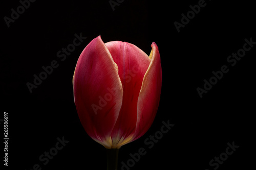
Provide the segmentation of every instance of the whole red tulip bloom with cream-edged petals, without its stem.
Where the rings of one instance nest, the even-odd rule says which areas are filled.
[[[74,102],[88,135],[117,150],[152,125],[161,92],[162,70],[155,42],[147,56],[134,44],[93,39],[74,71]],[[115,151],[116,152],[116,151]]]

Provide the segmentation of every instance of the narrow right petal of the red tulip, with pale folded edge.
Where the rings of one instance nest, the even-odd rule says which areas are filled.
[[[132,141],[141,137],[151,127],[160,101],[162,86],[160,54],[155,42],[151,47],[151,62],[143,78],[139,94],[136,131]]]

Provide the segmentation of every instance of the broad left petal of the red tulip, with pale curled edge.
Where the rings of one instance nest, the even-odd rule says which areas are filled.
[[[89,136],[111,148],[111,132],[122,104],[122,84],[118,67],[101,37],[84,48],[75,68],[75,105]]]

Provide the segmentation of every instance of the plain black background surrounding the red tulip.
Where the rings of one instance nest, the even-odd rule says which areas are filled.
[[[125,0],[113,11],[109,1],[36,1],[8,28],[4,17],[19,1],[1,2],[1,67],[3,112],[9,115],[8,168],[105,169],[105,149],[84,131],[73,101],[72,77],[83,48],[101,35],[104,42],[135,44],[146,54],[156,42],[163,72],[159,109],[150,130],[119,151],[119,165],[130,153],[146,149],[131,169],[214,169],[227,142],[240,147],[218,169],[249,169],[255,114],[255,46],[233,67],[226,59],[255,34],[255,8],[242,1],[205,1],[193,19],[178,33],[174,22],[199,1]],[[65,61],[57,57],[73,43],[74,34],[87,37]],[[42,66],[56,60],[51,75],[30,93]],[[201,99],[197,87],[212,71],[227,65],[229,72]],[[160,131],[162,121],[175,126],[154,144],[144,140]],[[1,129],[3,123],[1,123]],[[3,139],[3,135],[1,135]],[[39,156],[55,147],[57,137],[69,143],[46,165]],[[2,145],[4,147],[4,145]],[[2,159],[3,159],[3,149]],[[1,160],[1,164],[3,161]],[[216,167],[216,166],[215,166]]]

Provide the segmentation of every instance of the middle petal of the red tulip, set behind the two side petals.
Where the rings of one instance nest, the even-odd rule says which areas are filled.
[[[131,43],[111,41],[105,44],[118,65],[123,87],[122,107],[111,134],[113,145],[119,148],[129,142],[135,133],[138,97],[150,58]]]

